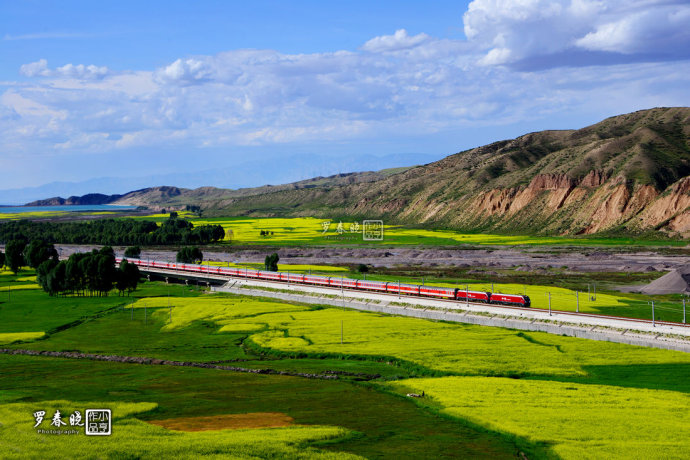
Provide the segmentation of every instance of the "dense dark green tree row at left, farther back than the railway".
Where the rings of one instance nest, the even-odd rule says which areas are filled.
[[[63,244],[102,245],[173,245],[209,244],[222,241],[225,230],[220,225],[200,225],[171,215],[160,226],[139,219],[100,219],[91,222],[0,223],[0,242],[27,239]]]

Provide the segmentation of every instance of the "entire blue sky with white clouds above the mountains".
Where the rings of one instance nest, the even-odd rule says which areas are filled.
[[[688,106],[689,87],[687,1],[0,0],[0,189],[397,166]]]

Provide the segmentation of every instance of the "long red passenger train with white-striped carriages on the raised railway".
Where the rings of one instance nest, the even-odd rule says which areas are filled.
[[[117,263],[122,262],[117,258]],[[351,278],[335,276],[302,275],[289,272],[269,272],[252,270],[248,268],[213,267],[208,265],[183,264],[177,262],[159,262],[140,259],[128,260],[140,267],[161,268],[167,270],[180,270],[195,273],[208,273],[216,275],[237,276],[241,278],[254,278],[268,281],[282,281],[297,284],[313,284],[316,286],[342,287],[345,289],[359,289],[363,291],[388,292],[391,294],[405,294],[422,297],[435,297],[440,299],[452,299],[466,302],[482,302],[490,304],[514,305],[529,307],[530,300],[526,295],[500,294],[482,291],[469,291],[466,289],[446,288],[438,286],[420,286],[416,284],[402,284],[386,281],[354,280]]]

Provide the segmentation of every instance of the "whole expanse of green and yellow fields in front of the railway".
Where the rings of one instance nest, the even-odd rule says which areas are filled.
[[[0,297],[3,336],[20,340],[3,345],[11,348],[346,373],[328,381],[0,355],[0,449],[9,458],[88,456],[86,437],[35,433],[31,414],[90,404],[117,417],[105,457],[682,458],[690,449],[690,354],[682,352],[162,283],[144,283],[131,298],[20,290]],[[365,374],[379,377],[360,382]],[[411,391],[425,396],[404,397]],[[202,432],[148,423],[265,412],[294,421]]]

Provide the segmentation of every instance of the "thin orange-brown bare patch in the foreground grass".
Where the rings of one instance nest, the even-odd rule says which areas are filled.
[[[277,428],[291,425],[294,419],[281,412],[182,417],[149,420],[149,423],[177,431],[239,430],[243,428]]]

